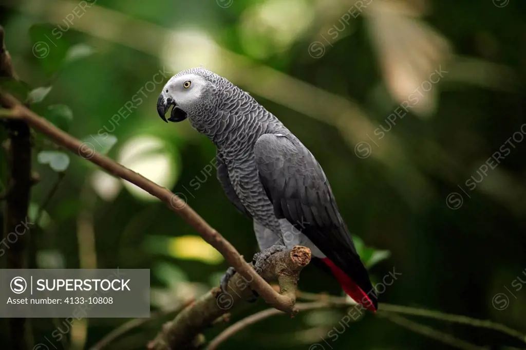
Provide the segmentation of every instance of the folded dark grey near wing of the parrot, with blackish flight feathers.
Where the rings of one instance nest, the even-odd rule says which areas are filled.
[[[276,217],[286,218],[305,234],[363,291],[373,291],[327,178],[309,150],[294,136],[264,134],[254,154]]]

